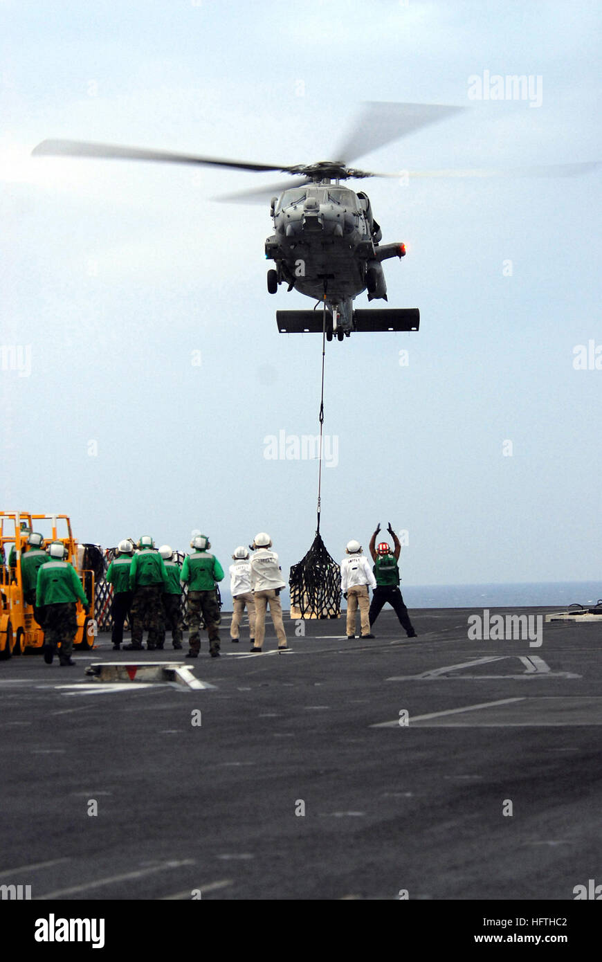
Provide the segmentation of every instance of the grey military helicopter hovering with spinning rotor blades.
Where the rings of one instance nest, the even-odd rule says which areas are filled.
[[[367,291],[368,301],[387,301],[383,261],[402,258],[401,241],[381,244],[382,230],[364,190],[351,190],[341,181],[368,177],[394,177],[349,166],[352,160],[446,117],[466,110],[441,104],[368,102],[350,134],[339,146],[338,161],[308,165],[265,165],[246,161],[174,153],[138,147],[91,143],[84,140],[42,140],[35,156],[88,157],[112,160],[156,161],[168,164],[209,165],[255,172],[280,171],[296,176],[291,185],[277,184],[245,190],[218,199],[264,200],[270,197],[275,233],[265,241],[265,258],[275,262],[267,271],[267,291],[281,284],[321,305],[323,311],[277,311],[281,333],[323,333],[327,341],[342,341],[355,331],[417,331],[417,308],[355,310],[355,298]],[[514,170],[404,171],[412,176],[554,176],[582,173],[598,162],[546,165]]]

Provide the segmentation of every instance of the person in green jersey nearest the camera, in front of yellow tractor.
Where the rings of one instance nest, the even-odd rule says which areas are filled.
[[[89,605],[75,569],[64,561],[65,554],[64,544],[53,542],[48,548],[48,560],[38,568],[36,604],[43,608],[46,665],[52,665],[59,645],[61,664],[75,665],[71,652],[77,634],[76,602],[79,599],[86,610]]]

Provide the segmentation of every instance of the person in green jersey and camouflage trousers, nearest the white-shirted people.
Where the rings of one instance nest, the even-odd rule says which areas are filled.
[[[182,581],[188,585],[188,645],[187,658],[197,658],[201,649],[199,627],[201,614],[209,634],[209,650],[212,658],[219,657],[219,601],[215,583],[221,581],[224,571],[213,554],[205,535],[197,535],[190,542],[192,553],[184,559]]]

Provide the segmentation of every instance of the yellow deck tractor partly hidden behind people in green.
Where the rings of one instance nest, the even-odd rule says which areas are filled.
[[[69,561],[77,571],[90,610],[93,611],[94,572],[78,567],[78,545],[71,532],[68,516],[0,511],[0,661],[10,658],[12,654],[23,654],[30,648],[40,651],[44,643],[43,627],[36,620],[34,606],[25,599],[21,573],[21,558],[32,532],[41,534],[46,544],[53,541],[64,544],[67,552],[65,561]],[[43,613],[40,620],[43,620]],[[82,603],[78,601],[74,647],[92,648],[95,636],[96,622],[87,616]]]

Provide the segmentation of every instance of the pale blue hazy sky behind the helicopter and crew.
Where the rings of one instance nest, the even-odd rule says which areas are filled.
[[[288,571],[318,466],[269,440],[317,433],[321,338],[278,333],[277,309],[313,304],[266,291],[268,204],[213,199],[280,175],[32,149],[311,163],[391,101],[464,110],[367,142],[368,169],[599,161],[599,5],[2,0],[0,21],[2,507],[104,546],[201,531],[224,565],[267,531]],[[475,96],[514,74],[533,96]],[[599,577],[601,175],[352,182],[408,248],[389,307],[421,319],[326,345],[337,560],[390,521],[406,585]]]

